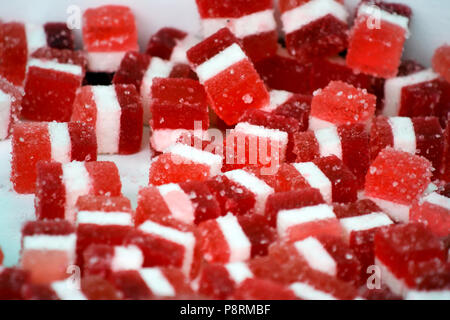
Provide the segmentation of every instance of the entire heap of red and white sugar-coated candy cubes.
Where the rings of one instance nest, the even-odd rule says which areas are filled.
[[[271,0],[197,0],[202,37],[145,53],[125,6],[86,10],[78,51],[0,23],[0,139],[36,214],[0,299],[450,299],[450,47],[402,61],[405,5],[278,6],[280,41]],[[144,125],[133,209],[97,155]]]

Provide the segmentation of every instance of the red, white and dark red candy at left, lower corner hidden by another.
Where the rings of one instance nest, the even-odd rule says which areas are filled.
[[[95,161],[94,129],[84,123],[17,123],[13,127],[11,181],[18,193],[33,193],[39,161]]]

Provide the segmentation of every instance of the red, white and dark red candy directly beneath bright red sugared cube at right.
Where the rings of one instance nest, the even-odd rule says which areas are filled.
[[[360,123],[299,132],[295,135],[294,153],[298,162],[334,155],[344,162],[361,186],[370,162],[369,134]]]

